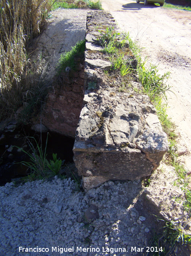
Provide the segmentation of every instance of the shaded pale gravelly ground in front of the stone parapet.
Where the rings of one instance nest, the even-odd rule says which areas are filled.
[[[18,187],[7,183],[0,187],[0,255],[98,256],[121,248],[123,251],[116,255],[126,256],[136,255],[131,253],[131,246],[146,247],[146,232],[151,225],[146,223],[147,216],[141,221],[144,216],[139,217],[136,209],[142,204],[138,197],[141,182],[106,182],[87,193],[77,188],[70,178],[60,180],[57,176],[49,182],[39,180]],[[88,223],[84,214],[90,205],[97,207],[99,217]],[[47,252],[19,252],[19,247],[37,246],[47,248]],[[73,251],[64,252],[63,248]],[[83,248],[95,248],[97,252]]]

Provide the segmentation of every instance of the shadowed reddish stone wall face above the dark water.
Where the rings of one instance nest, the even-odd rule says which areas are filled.
[[[55,77],[42,122],[50,130],[75,137],[84,98],[84,60],[76,59],[76,71],[63,71]]]

